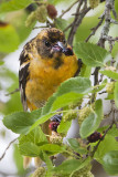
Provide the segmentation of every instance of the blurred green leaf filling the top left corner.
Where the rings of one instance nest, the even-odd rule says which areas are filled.
[[[0,6],[0,12],[10,12],[14,10],[20,10],[26,8],[33,0],[10,0],[8,2],[2,2]]]

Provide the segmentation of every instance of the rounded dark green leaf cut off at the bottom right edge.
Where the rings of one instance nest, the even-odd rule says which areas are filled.
[[[118,175],[118,150],[111,150],[103,157],[103,166],[109,175]]]

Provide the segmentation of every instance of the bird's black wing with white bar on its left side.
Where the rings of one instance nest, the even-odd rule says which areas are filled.
[[[28,104],[26,104],[26,96],[25,96],[25,85],[29,80],[30,58],[29,58],[29,54],[25,52],[25,49],[22,51],[19,60],[20,60],[19,87],[21,92],[21,102],[23,105],[23,110],[26,111]]]

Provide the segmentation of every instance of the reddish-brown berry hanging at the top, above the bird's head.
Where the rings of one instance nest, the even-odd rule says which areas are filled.
[[[57,15],[57,10],[53,4],[47,4],[46,7],[47,14],[51,19],[55,19]]]

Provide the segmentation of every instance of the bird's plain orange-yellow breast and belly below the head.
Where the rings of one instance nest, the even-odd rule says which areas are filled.
[[[76,56],[66,56],[62,61],[58,69],[54,69],[54,59],[31,61],[25,95],[35,107],[43,106],[62,82],[75,75],[78,69]]]

